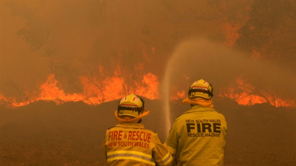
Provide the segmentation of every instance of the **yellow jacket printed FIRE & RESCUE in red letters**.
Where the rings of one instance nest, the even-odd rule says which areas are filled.
[[[103,151],[108,165],[171,165],[173,161],[158,134],[135,122],[109,128]]]

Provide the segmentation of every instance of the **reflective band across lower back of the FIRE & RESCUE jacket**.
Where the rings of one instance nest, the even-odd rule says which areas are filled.
[[[107,161],[112,160],[137,160],[145,162],[150,165],[155,165],[155,161],[152,159],[152,155],[133,151],[133,150],[117,150],[112,152],[107,152]]]

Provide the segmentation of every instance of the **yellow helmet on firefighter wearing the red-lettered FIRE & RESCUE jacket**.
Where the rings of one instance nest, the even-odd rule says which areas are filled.
[[[123,97],[118,104],[118,116],[128,115],[137,117],[144,111],[144,100],[134,94]]]

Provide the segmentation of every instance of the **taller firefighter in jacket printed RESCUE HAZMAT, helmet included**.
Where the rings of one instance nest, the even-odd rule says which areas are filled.
[[[212,97],[212,85],[205,80],[190,86],[183,103],[192,108],[175,119],[165,140],[173,165],[223,165],[227,124],[224,116],[213,109]]]

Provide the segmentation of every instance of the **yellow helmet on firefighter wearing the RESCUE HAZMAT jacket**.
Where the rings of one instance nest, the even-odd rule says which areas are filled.
[[[213,97],[213,87],[210,83],[200,79],[189,87],[188,97],[202,97],[209,100]]]

